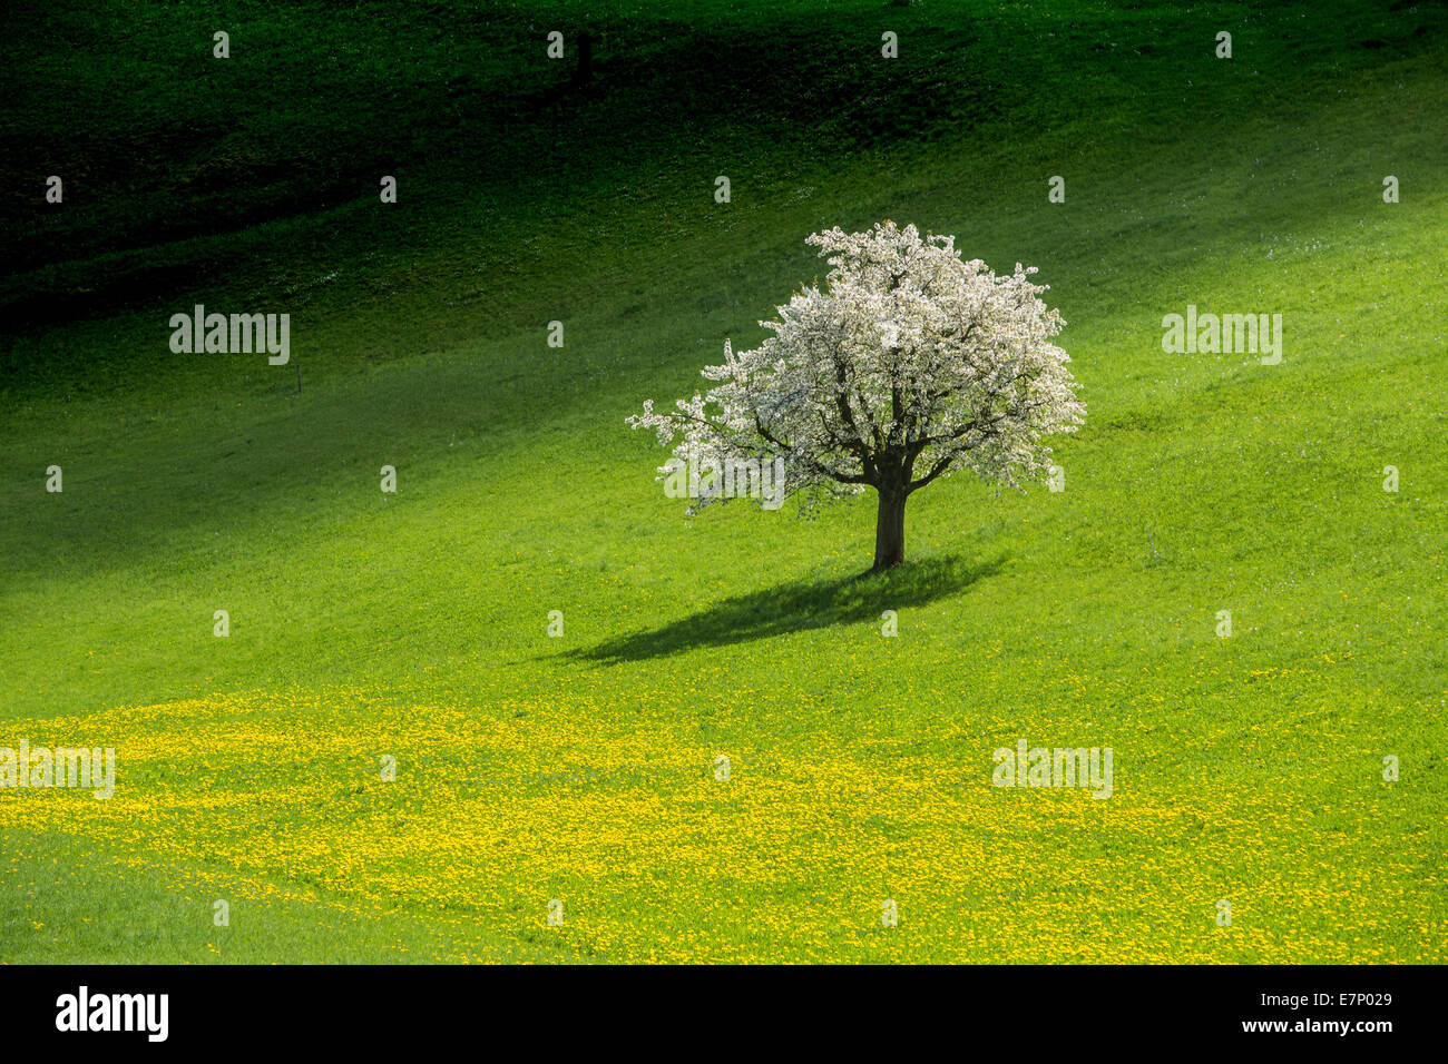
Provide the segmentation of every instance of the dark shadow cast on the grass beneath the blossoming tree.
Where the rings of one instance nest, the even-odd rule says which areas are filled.
[[[1005,554],[989,562],[927,557],[883,573],[780,583],[724,599],[662,628],[573,650],[569,657],[608,664],[641,662],[696,647],[723,647],[835,624],[875,622],[886,609],[919,607],[964,591],[1001,572],[1005,559]]]

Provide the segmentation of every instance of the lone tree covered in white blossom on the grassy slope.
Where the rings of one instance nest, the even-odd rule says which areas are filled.
[[[681,463],[759,469],[782,457],[791,495],[875,488],[879,572],[905,560],[914,492],[961,468],[1012,486],[1040,476],[1051,456],[1043,437],[1076,431],[1086,408],[1051,343],[1064,323],[1028,279],[1034,266],[996,276],[963,262],[953,236],[921,239],[893,221],[807,243],[830,262],[825,290],[804,288],[760,321],[775,334],[754,350],[725,342],[724,365],[702,371],[717,382],[707,394],[669,413],[649,401],[628,423],[673,446],[660,479]]]

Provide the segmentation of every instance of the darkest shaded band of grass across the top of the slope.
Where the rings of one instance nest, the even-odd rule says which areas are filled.
[[[1183,120],[1245,119],[1283,96],[1261,69],[1341,78],[1436,46],[1444,17],[1428,4],[1312,20],[1292,6],[1244,22],[1235,4],[1187,19],[1167,6],[947,13],[851,1],[825,20],[738,0],[683,19],[628,4],[484,14],[446,0],[313,0],[97,22],[30,7],[20,55],[0,71],[0,91],[20,101],[0,124],[0,204],[12,216],[0,333],[203,285],[262,285],[319,253],[416,252],[479,203],[555,217],[599,190],[647,191],[660,169],[688,174],[708,203],[717,174],[757,182],[766,153],[818,159],[1063,129],[1085,146],[1129,126],[1151,138]],[[210,54],[219,20],[230,59]],[[1237,28],[1251,67],[1211,58],[1219,23]],[[586,87],[571,84],[572,52],[546,58],[549,29],[571,42],[594,35]],[[883,30],[904,42],[898,59],[880,56]],[[67,182],[62,207],[43,201],[51,174]],[[387,210],[382,174],[400,181]],[[23,350],[0,349],[7,372],[25,363]]]

